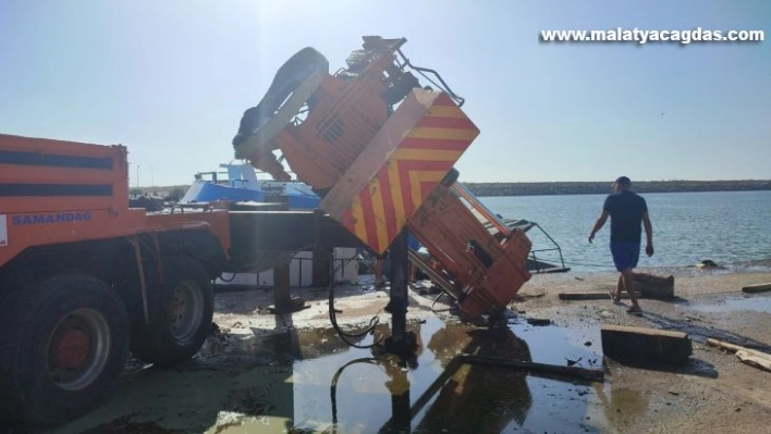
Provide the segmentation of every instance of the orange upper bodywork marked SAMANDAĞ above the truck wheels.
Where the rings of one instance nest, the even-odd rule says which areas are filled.
[[[211,225],[225,252],[227,212],[148,218],[128,208],[121,145],[0,134],[0,265],[32,246]]]

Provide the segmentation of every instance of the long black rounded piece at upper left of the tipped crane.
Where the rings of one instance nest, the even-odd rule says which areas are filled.
[[[329,75],[327,58],[311,47],[291,57],[279,69],[265,97],[244,112],[233,137],[235,158],[265,153],[267,148]],[[309,109],[310,110],[310,109]]]

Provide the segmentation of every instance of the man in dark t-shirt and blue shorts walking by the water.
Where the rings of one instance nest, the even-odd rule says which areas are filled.
[[[637,266],[640,256],[641,228],[646,234],[646,255],[653,256],[653,228],[648,216],[648,204],[645,199],[629,190],[632,181],[620,176],[613,183],[613,194],[605,198],[602,213],[597,219],[595,227],[589,234],[589,243],[595,239],[595,234],[604,226],[608,216],[611,218],[610,250],[613,256],[615,269],[621,272],[619,284],[612,294],[613,301],[621,299],[621,289],[626,289],[632,300],[628,313],[641,314],[642,309],[635,296],[635,280],[632,270]]]

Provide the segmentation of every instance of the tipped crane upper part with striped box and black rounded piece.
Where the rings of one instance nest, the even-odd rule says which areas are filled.
[[[376,253],[406,257],[406,238],[392,243],[414,236],[435,261],[411,259],[463,317],[504,308],[530,278],[531,244],[456,182],[453,164],[479,134],[464,99],[436,71],[409,62],[405,38],[363,39],[334,74],[311,47],[290,58],[244,112],[235,157],[277,179],[289,177],[285,160],[322,197],[319,208]],[[406,259],[400,263],[393,274],[401,281]]]

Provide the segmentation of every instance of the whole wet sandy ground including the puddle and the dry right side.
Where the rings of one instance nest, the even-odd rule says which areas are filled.
[[[406,367],[342,342],[330,323],[326,288],[294,290],[306,309],[284,315],[268,312],[270,292],[220,293],[217,325],[193,360],[174,369],[131,360],[102,407],[41,432],[764,432],[771,423],[771,373],[708,346],[706,338],[771,352],[771,293],[741,292],[771,282],[769,264],[646,272],[674,275],[675,299],[640,300],[640,318],[625,312],[628,301],[559,298],[610,290],[615,273],[534,275],[511,313],[492,326],[463,324],[444,311],[446,298],[414,288],[407,320],[418,350]],[[374,335],[354,344],[366,347],[389,335],[390,314],[382,311],[388,289],[362,276],[359,285],[335,292],[344,331],[362,331],[375,315],[380,320]],[[536,326],[527,319],[551,324]],[[603,358],[602,324],[684,331],[693,340],[690,361],[642,369]],[[449,372],[462,354],[600,369],[605,375],[592,382],[466,364]]]

